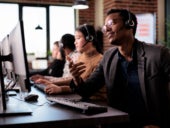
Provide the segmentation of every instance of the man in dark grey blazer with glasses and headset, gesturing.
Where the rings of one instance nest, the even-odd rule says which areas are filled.
[[[81,63],[70,62],[70,87],[89,97],[104,84],[111,107],[129,114],[130,128],[167,128],[170,121],[170,52],[135,39],[137,20],[125,9],[111,9],[103,31],[115,47],[83,81]],[[169,119],[168,119],[169,118]],[[125,126],[128,127],[128,126]]]

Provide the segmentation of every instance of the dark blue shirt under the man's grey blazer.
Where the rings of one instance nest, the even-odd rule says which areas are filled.
[[[118,71],[121,74],[124,82],[121,82],[126,88],[125,90],[127,97],[125,99],[127,101],[127,112],[130,115],[130,118],[133,121],[138,120],[138,122],[144,118],[147,118],[147,111],[145,108],[144,100],[141,93],[139,77],[138,77],[138,67],[137,67],[137,55],[136,51],[133,50],[132,53],[132,61],[128,62],[125,58],[118,52],[119,55],[119,63],[118,63]]]

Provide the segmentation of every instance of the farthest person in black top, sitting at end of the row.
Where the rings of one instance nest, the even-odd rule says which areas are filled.
[[[53,61],[47,67],[47,69],[30,72],[31,79],[44,78],[44,76],[61,77],[63,75],[63,69],[65,64],[65,53],[62,47],[59,46],[59,41],[55,41],[52,49]]]

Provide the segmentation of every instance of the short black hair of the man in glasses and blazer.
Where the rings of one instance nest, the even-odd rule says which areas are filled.
[[[130,12],[127,9],[115,9],[112,8],[107,12],[107,16],[112,14],[112,13],[119,13],[120,16],[123,19],[123,22],[125,24],[126,21],[128,20],[132,20],[134,22],[134,27],[133,27],[133,35],[136,34],[136,29],[137,29],[137,18],[135,16],[135,14],[133,14],[132,12]]]

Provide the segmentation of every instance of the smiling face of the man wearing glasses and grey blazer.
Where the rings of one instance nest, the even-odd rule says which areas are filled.
[[[126,38],[127,29],[119,13],[112,13],[105,19],[103,32],[106,34],[109,42],[113,45],[121,45]]]

